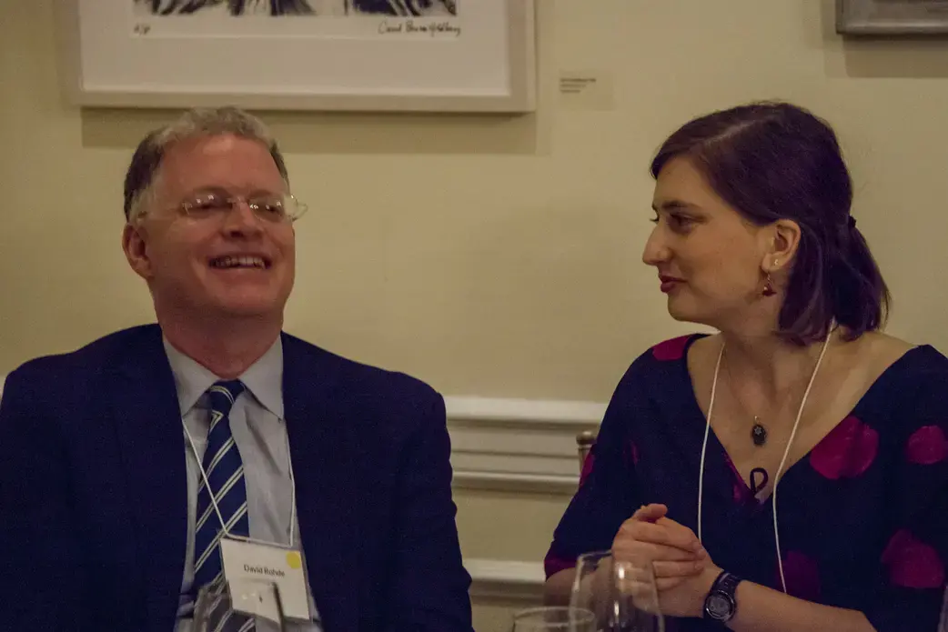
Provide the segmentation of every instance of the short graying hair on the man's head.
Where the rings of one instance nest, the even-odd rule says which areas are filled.
[[[264,145],[273,156],[283,181],[289,183],[283,153],[280,153],[277,141],[270,135],[264,121],[231,106],[195,108],[150,132],[138,143],[125,172],[125,220],[133,223],[145,213],[144,203],[154,192],[161,160],[169,147],[188,138],[225,134],[256,140]]]

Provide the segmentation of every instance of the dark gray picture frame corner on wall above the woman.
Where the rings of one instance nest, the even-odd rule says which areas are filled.
[[[946,0],[836,0],[836,32],[846,35],[948,34]]]

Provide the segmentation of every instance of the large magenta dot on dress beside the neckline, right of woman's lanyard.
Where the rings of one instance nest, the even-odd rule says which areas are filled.
[[[810,453],[814,470],[830,480],[862,476],[879,452],[879,433],[849,416]]]

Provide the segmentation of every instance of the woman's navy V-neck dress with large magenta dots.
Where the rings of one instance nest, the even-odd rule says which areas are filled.
[[[686,354],[699,337],[652,348],[619,383],[556,528],[547,576],[609,549],[647,503],[667,505],[697,533],[705,419]],[[779,590],[773,497],[753,497],[713,431],[704,468],[705,549],[720,568]],[[948,560],[948,358],[921,346],[885,370],[781,478],[777,515],[790,594],[859,610],[879,632],[935,632]],[[720,629],[700,619],[669,628]]]

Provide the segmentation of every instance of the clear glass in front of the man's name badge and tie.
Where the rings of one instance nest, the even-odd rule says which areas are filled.
[[[283,606],[276,584],[254,580],[226,581],[223,577],[201,587],[194,602],[193,632],[243,632],[269,622],[267,629],[283,632]]]

